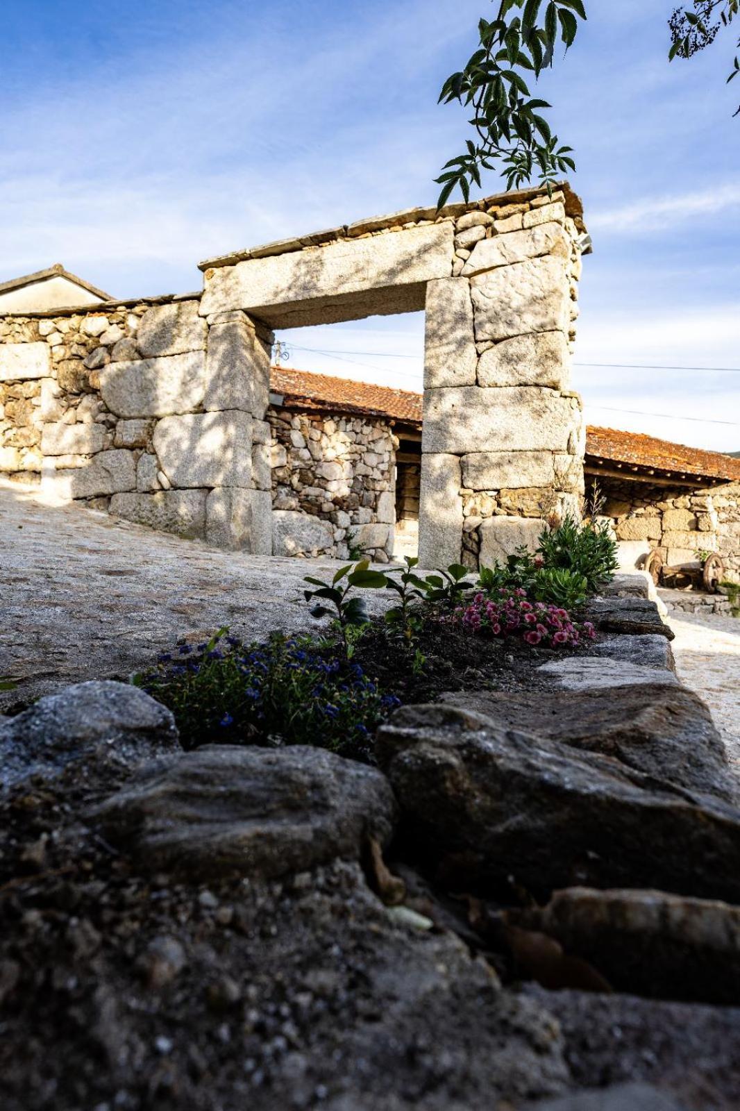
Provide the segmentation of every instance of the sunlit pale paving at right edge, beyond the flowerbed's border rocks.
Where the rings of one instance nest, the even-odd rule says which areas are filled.
[[[740,773],[740,619],[671,613],[679,678],[707,702]]]

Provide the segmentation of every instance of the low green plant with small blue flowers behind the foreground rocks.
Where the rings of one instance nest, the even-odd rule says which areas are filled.
[[[187,749],[316,744],[368,761],[374,729],[399,704],[309,635],[244,644],[220,629],[196,648],[163,653],[132,682],[169,707]]]

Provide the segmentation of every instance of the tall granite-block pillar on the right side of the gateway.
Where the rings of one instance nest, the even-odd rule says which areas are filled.
[[[419,559],[471,568],[580,513],[570,389],[580,252],[562,194],[470,210],[451,277],[427,286]]]

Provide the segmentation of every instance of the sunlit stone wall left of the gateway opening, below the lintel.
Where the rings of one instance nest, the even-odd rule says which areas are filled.
[[[54,500],[269,554],[270,343],[244,313],[206,321],[196,296],[8,318],[0,470]]]

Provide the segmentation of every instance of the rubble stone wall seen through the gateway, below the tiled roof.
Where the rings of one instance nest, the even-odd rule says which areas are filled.
[[[276,556],[393,551],[398,440],[388,421],[270,408]]]

